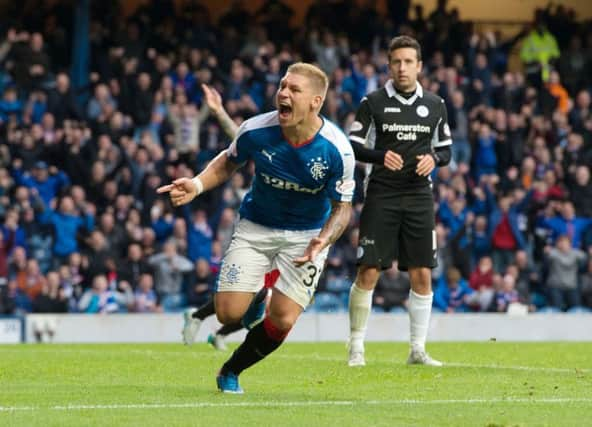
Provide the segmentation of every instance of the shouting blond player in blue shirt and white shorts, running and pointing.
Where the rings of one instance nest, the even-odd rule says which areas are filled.
[[[215,295],[223,324],[237,323],[264,274],[280,271],[264,320],[222,366],[216,382],[242,393],[238,376],[276,350],[310,303],[328,246],[351,216],[354,155],[347,137],[319,111],[328,79],[319,68],[291,65],[276,94],[277,111],[245,121],[231,146],[193,179],[158,189],[176,206],[227,181],[252,159],[255,178],[224,255]]]

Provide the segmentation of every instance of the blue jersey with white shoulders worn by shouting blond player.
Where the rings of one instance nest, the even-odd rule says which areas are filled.
[[[228,148],[229,159],[255,162],[255,178],[240,207],[241,218],[284,230],[321,228],[330,200],[351,202],[355,159],[345,134],[323,118],[307,143],[284,137],[278,113],[246,120]]]

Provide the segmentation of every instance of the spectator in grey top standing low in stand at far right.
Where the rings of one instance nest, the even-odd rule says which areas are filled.
[[[545,248],[545,254],[549,265],[546,287],[551,307],[563,310],[580,306],[578,269],[586,254],[574,249],[567,235],[559,236],[554,248]],[[592,250],[590,254],[592,256]]]

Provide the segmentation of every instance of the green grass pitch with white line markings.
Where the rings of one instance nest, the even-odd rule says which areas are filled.
[[[229,353],[206,344],[0,346],[0,426],[583,426],[592,424],[592,343],[288,343],[223,395]]]

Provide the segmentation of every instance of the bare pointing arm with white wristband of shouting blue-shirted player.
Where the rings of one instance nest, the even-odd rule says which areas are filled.
[[[224,150],[214,157],[199,175],[176,179],[171,184],[159,187],[156,192],[169,193],[173,206],[181,206],[191,202],[204,191],[228,181],[239,167],[239,164],[228,158],[228,150]]]

